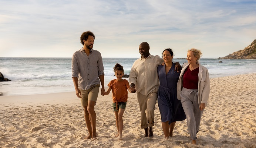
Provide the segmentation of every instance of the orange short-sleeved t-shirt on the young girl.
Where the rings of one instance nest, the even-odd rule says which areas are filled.
[[[130,87],[127,80],[118,81],[116,79],[111,80],[108,83],[108,87],[112,89],[113,102],[127,102],[128,92],[127,89]]]

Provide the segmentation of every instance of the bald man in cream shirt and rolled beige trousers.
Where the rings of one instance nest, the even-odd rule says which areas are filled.
[[[129,81],[131,91],[137,92],[139,110],[141,111],[141,128],[145,130],[145,137],[154,137],[153,129],[155,118],[155,105],[159,87],[157,67],[164,60],[158,55],[149,53],[149,44],[142,42],[139,45],[141,57],[132,65]],[[176,62],[175,70],[180,71],[181,65]],[[148,128],[149,127],[149,128]]]

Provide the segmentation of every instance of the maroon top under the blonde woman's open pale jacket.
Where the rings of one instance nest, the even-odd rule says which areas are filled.
[[[198,89],[198,73],[199,67],[192,71],[187,67],[183,74],[183,87],[187,89]]]

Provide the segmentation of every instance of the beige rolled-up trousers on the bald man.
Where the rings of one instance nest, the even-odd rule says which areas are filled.
[[[144,96],[140,92],[137,94],[139,110],[141,111],[141,128],[154,126],[155,104],[157,100],[158,88],[155,88],[148,95]]]

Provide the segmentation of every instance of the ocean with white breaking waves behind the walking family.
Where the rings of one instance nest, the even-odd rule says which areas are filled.
[[[105,89],[114,79],[116,63],[129,74],[138,58],[102,58]],[[173,59],[181,65],[186,59]],[[200,63],[208,68],[210,78],[246,73],[256,73],[256,60],[225,60],[202,58]],[[222,63],[219,63],[222,61]],[[0,82],[2,95],[31,95],[75,91],[71,78],[71,58],[0,57],[0,72],[11,81]],[[129,80],[129,78],[125,78]]]

